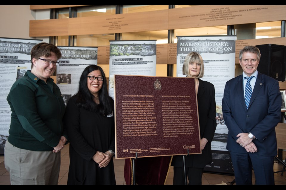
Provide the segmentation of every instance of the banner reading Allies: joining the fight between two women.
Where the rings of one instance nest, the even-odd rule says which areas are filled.
[[[83,70],[88,65],[97,65],[97,47],[57,46],[62,57],[57,66],[55,83],[60,88],[65,105],[77,93]]]

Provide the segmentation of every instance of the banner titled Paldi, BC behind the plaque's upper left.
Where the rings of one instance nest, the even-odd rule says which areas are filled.
[[[156,40],[110,41],[108,88],[113,98],[114,75],[156,76]]]

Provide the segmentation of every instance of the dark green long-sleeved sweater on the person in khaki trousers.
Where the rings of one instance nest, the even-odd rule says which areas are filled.
[[[65,104],[52,78],[47,83],[27,71],[7,96],[11,107],[8,141],[31,151],[52,151],[63,134]],[[66,136],[67,137],[67,136]]]

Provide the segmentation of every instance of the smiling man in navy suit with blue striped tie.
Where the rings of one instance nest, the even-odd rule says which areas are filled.
[[[275,126],[281,118],[281,94],[277,80],[257,71],[260,51],[246,46],[239,54],[243,74],[229,80],[224,89],[223,117],[229,129],[230,151],[236,184],[273,184],[277,155]]]

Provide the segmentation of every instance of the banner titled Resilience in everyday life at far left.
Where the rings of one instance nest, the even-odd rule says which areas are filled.
[[[42,40],[0,38],[0,155],[9,135],[11,109],[7,96],[14,82],[31,70],[31,50]],[[25,97],[23,97],[25,98]]]

